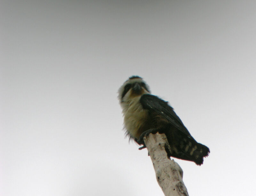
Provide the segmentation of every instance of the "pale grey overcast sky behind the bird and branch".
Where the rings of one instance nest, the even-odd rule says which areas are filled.
[[[124,138],[140,75],[211,153],[175,159],[190,196],[255,193],[255,1],[0,4],[0,195],[163,195]]]

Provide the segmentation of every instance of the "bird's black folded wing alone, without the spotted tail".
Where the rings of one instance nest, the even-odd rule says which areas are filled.
[[[157,96],[144,94],[140,98],[140,103],[144,109],[156,112],[164,119],[169,121],[172,126],[176,127],[187,136],[193,138],[188,132],[188,129],[181,122],[179,116],[177,116],[177,114],[173,111],[173,108],[168,105],[168,102],[158,98]]]

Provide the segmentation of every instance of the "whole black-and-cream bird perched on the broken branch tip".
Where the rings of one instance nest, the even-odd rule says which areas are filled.
[[[143,145],[140,150],[146,148],[144,136],[164,133],[170,146],[166,150],[168,157],[203,164],[210,149],[191,136],[168,102],[151,94],[143,78],[137,75],[129,77],[119,88],[118,99],[126,136]]]

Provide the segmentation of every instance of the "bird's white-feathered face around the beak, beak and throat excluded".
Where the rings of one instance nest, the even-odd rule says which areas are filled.
[[[131,97],[132,86],[135,83],[138,83],[142,89],[140,95],[150,94],[149,86],[145,81],[142,80],[142,78],[128,79],[124,82],[124,84],[118,90],[118,99],[120,103],[126,101]]]

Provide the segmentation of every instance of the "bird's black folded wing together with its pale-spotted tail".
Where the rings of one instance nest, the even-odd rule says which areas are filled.
[[[176,128],[163,132],[170,145],[170,151],[166,151],[169,157],[194,161],[197,165],[203,164],[204,157],[210,153],[209,148],[196,142],[168,102],[154,95],[145,94],[141,96],[140,103],[144,109],[159,114]]]

